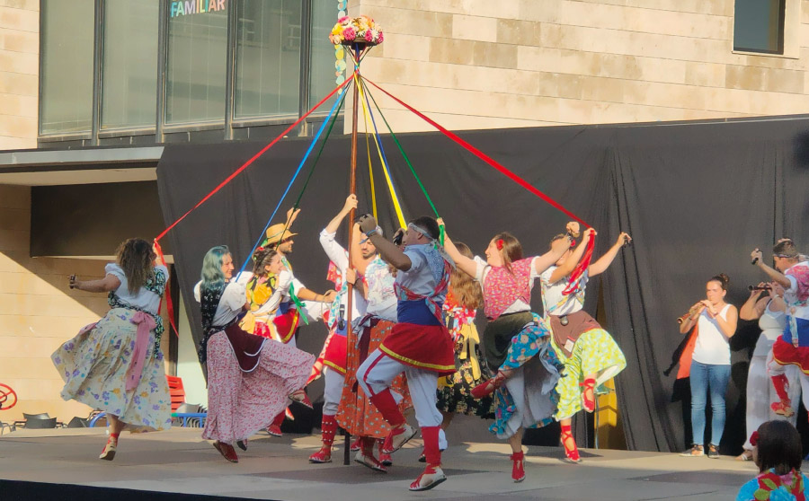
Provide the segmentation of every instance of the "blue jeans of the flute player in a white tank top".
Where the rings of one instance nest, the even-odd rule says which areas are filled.
[[[691,428],[692,444],[705,440],[705,406],[711,391],[711,444],[719,446],[725,431],[725,391],[730,381],[730,365],[691,362]]]

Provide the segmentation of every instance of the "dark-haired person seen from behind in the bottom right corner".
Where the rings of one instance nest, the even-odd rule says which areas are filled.
[[[751,436],[759,476],[745,483],[736,501],[805,499],[809,478],[801,473],[801,435],[784,421],[768,421]]]

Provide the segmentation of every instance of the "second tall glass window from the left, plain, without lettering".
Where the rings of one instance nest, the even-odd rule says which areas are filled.
[[[105,0],[102,128],[155,125],[160,3]]]

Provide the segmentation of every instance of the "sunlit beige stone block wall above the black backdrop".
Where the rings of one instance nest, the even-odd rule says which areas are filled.
[[[787,0],[787,57],[734,53],[733,6],[353,0],[349,12],[386,35],[363,74],[450,129],[809,112],[809,1]],[[374,94],[395,130],[430,128]]]

